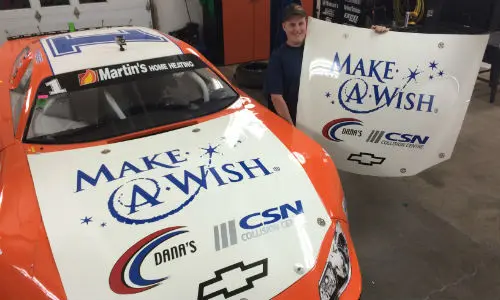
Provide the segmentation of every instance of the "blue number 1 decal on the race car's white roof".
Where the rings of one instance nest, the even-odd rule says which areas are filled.
[[[71,36],[67,34],[47,39],[48,48],[54,57],[81,52],[82,46],[115,43],[116,36],[121,35],[129,42],[168,42],[161,35],[154,35],[138,29],[117,30],[115,33],[94,34],[86,36]]]

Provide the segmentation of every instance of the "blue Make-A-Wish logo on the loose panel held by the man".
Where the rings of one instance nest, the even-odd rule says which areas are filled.
[[[438,65],[432,61],[424,69],[399,67],[395,61],[356,59],[351,54],[343,57],[337,52],[331,73],[349,76],[335,91],[339,104],[351,113],[368,114],[383,108],[437,113],[436,95],[419,90],[417,84],[443,77]],[[332,93],[327,91],[325,95],[330,98]]]

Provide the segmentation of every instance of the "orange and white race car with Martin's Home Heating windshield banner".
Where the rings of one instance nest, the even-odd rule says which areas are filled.
[[[332,158],[192,46],[88,29],[0,64],[2,300],[359,299]]]

